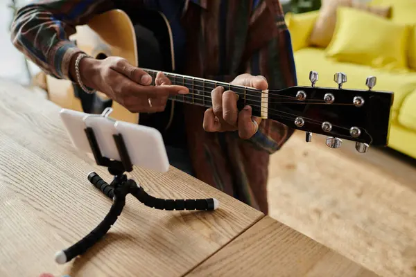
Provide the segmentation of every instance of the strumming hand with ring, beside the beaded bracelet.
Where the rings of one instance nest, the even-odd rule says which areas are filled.
[[[73,80],[76,80],[75,61],[76,57],[73,57],[70,67]],[[189,93],[187,87],[172,85],[162,72],[157,73],[156,85],[150,85],[152,77],[148,73],[121,57],[107,57],[105,60],[84,57],[79,66],[85,86],[105,93],[133,113],[163,111],[168,96]]]

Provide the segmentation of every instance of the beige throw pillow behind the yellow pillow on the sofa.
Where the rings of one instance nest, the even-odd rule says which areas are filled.
[[[309,37],[309,44],[322,48],[328,46],[335,29],[336,10],[338,7],[352,7],[358,10],[365,10],[380,17],[390,16],[390,6],[369,6],[354,0],[322,0],[318,18]]]

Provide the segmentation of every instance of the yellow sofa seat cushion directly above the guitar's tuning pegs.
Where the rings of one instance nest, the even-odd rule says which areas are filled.
[[[336,62],[325,57],[322,48],[303,48],[296,51],[295,64],[297,81],[302,86],[311,85],[309,71],[318,71],[319,80],[316,83],[318,87],[336,87],[337,84],[333,82],[333,74],[336,72],[347,75],[347,82],[343,84],[346,89],[368,89],[365,86],[365,79],[369,75],[376,76],[377,83],[374,90],[395,93],[392,116],[397,114],[395,111],[399,111],[404,98],[416,89],[416,72],[392,73],[365,65]]]

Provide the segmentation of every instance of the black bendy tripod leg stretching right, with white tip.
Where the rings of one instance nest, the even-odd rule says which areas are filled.
[[[198,211],[213,211],[218,208],[220,202],[215,198],[207,199],[161,199],[148,195],[141,186],[137,186],[132,179],[128,180],[130,183],[130,193],[137,198],[141,203],[150,208],[157,208],[158,210],[166,211],[181,211],[181,210],[198,210]]]

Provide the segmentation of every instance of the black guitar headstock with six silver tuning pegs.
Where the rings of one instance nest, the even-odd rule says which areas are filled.
[[[268,93],[268,118],[306,132],[328,135],[326,144],[339,148],[342,139],[356,141],[358,152],[367,152],[370,145],[388,145],[390,111],[393,93],[374,91],[376,77],[365,81],[368,90],[344,89],[344,73],[335,73],[338,87],[317,87],[318,73],[309,74],[311,87],[290,87]]]

